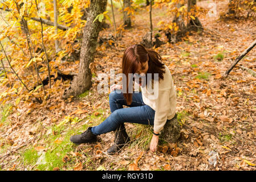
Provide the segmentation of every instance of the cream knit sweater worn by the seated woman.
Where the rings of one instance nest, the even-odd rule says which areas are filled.
[[[137,83],[135,82],[135,84]],[[149,86],[151,86],[151,84],[144,87],[135,85],[135,88],[141,90],[143,102],[155,110],[154,130],[160,132],[164,129],[166,120],[172,119],[176,112],[176,87],[173,84],[172,75],[166,65],[164,79],[158,82],[158,89],[156,89],[158,97],[153,97],[157,94],[154,95],[154,92],[150,93]],[[155,86],[155,84],[153,84],[153,86]],[[135,90],[139,91],[138,89]]]

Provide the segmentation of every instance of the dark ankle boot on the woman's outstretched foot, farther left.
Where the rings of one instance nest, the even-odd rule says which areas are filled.
[[[73,135],[70,137],[70,141],[75,143],[75,144],[81,144],[81,143],[91,143],[91,142],[96,142],[97,141],[97,135],[92,134],[91,132],[92,127],[88,127],[84,133],[80,135]]]

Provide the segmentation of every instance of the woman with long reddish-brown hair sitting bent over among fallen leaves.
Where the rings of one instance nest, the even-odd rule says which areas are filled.
[[[166,121],[172,119],[176,108],[176,90],[173,85],[172,75],[169,68],[161,61],[161,56],[140,44],[128,47],[124,51],[122,70],[127,78],[127,82],[122,85],[112,85],[109,94],[109,106],[111,114],[100,125],[88,127],[80,134],[70,138],[71,142],[76,144],[95,142],[96,136],[109,131],[116,131],[114,144],[108,149],[108,154],[115,154],[129,142],[128,134],[125,131],[124,122],[140,123],[144,125],[153,125],[153,137],[150,143],[150,150],[156,151],[159,142],[160,131],[164,128]],[[151,97],[148,85],[143,82],[135,82],[140,85],[141,92],[128,92],[128,74],[147,75],[152,73],[152,79],[149,79],[149,85],[155,80],[153,73],[158,73],[157,80],[158,97]],[[124,80],[124,78],[123,78]],[[148,83],[148,81],[146,82]],[[123,87],[126,87],[123,89]],[[117,92],[119,90],[120,92]],[[124,91],[127,92],[124,92]],[[137,90],[136,90],[137,91]],[[129,106],[123,108],[123,105]]]

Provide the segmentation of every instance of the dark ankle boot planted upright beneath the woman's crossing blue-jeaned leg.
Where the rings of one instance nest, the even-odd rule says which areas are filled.
[[[115,143],[110,148],[108,148],[107,153],[109,155],[115,154],[116,152],[121,150],[121,148],[123,148],[124,145],[129,141],[130,141],[130,138],[126,133],[124,124],[121,124],[116,129],[115,140],[114,140]]]

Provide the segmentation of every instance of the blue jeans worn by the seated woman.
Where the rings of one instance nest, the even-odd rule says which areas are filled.
[[[123,108],[123,105],[129,107]],[[109,94],[109,106],[111,114],[100,125],[91,128],[92,134],[115,131],[124,122],[154,125],[155,110],[144,104],[141,92],[133,91],[132,104],[127,105],[121,90],[118,93],[114,90]]]

